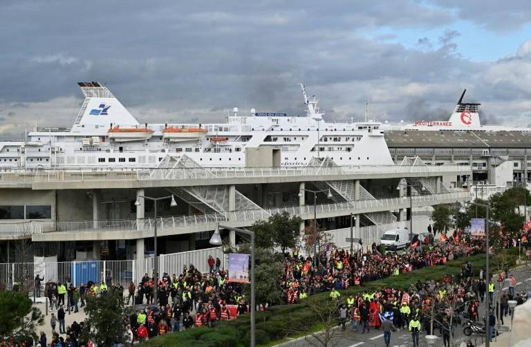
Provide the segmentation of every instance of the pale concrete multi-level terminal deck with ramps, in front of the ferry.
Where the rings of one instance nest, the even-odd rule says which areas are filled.
[[[194,249],[193,235],[212,231],[216,223],[247,227],[282,212],[309,221],[314,209],[326,229],[344,227],[340,218],[351,214],[358,228],[378,227],[404,221],[411,207],[469,200],[467,191],[454,187],[471,173],[458,165],[0,171],[3,208],[24,205],[23,218],[1,221],[0,240],[31,238],[75,248],[91,242],[94,250],[100,241],[136,240],[136,252],[143,252],[156,224],[160,237],[189,240]],[[321,193],[314,197],[304,189]],[[178,206],[162,204],[162,217],[153,218],[142,196],[168,194]],[[44,214],[28,214],[33,205]],[[172,252],[169,244],[166,252]]]

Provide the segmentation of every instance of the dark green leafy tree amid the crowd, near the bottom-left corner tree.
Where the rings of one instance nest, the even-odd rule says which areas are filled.
[[[97,346],[113,346],[125,335],[124,297],[118,290],[109,290],[106,295],[86,298],[85,314],[89,331],[84,339],[91,339]]]

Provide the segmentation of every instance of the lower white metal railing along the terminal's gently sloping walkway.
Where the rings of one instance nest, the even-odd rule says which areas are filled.
[[[445,194],[433,194],[413,196],[413,206],[415,205],[436,205],[440,203],[451,203],[460,200],[470,200],[469,191],[454,191]],[[317,205],[317,216],[319,214],[346,215],[353,213],[389,211],[409,207],[409,197],[384,198],[380,200],[357,200],[344,203],[333,203]],[[243,211],[225,212],[225,214],[194,214],[189,216],[170,216],[146,218],[132,221],[32,221],[30,228],[32,233],[46,232],[131,232],[131,231],[151,231],[155,223],[159,230],[172,229],[177,227],[190,227],[196,225],[212,225],[214,223],[234,221],[252,223],[269,218],[273,214],[288,212],[292,216],[301,216],[304,219],[313,218],[313,205],[277,207],[272,209],[250,209]],[[0,231],[4,224],[0,224]],[[0,232],[1,234],[1,232]]]

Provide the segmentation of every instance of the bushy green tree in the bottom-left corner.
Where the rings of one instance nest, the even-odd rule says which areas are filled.
[[[43,323],[44,315],[26,292],[0,292],[0,344],[12,337],[37,337],[35,329]]]

